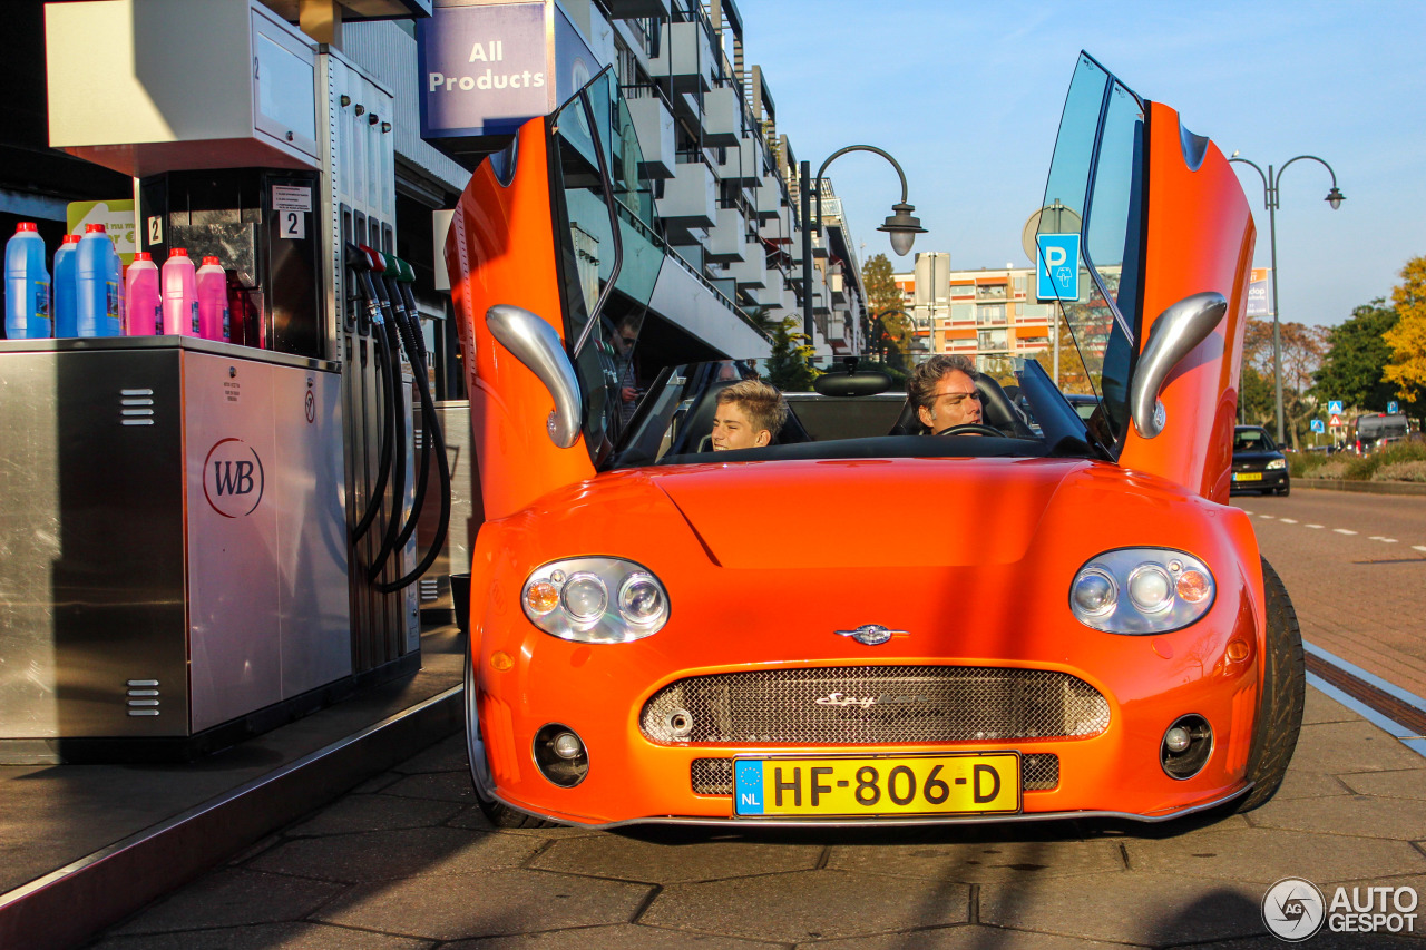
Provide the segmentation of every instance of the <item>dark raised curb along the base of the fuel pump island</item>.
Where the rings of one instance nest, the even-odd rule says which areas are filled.
[[[0,894],[0,947],[64,950],[463,727],[452,686],[270,775]]]

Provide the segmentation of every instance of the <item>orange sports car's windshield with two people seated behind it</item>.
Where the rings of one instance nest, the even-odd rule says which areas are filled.
[[[602,468],[700,464],[713,452],[720,462],[1104,456],[1038,362],[1015,361],[1004,374],[973,378],[947,368],[947,357],[935,359],[943,362],[920,375],[857,358],[669,367]],[[918,379],[928,385],[908,398]]]

